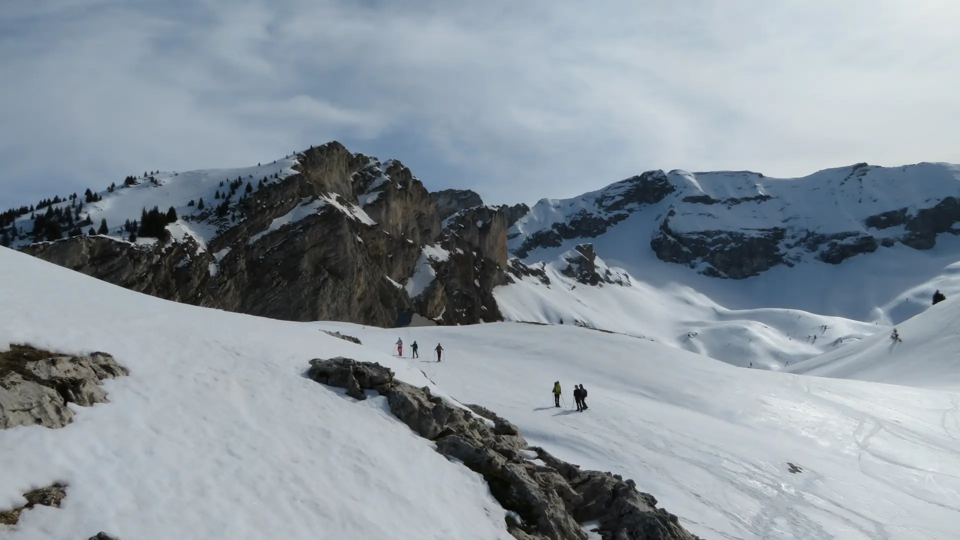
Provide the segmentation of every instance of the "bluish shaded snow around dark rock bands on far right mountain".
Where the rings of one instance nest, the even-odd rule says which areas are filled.
[[[591,242],[597,254],[615,267],[626,269],[636,281],[662,287],[682,284],[731,309],[783,307],[850,319],[899,323],[929,306],[934,288],[960,292],[957,269],[960,238],[943,233],[931,250],[914,250],[901,244],[879,248],[839,265],[816,260],[816,253],[801,248],[788,253],[796,265],[775,266],[747,280],[708,278],[683,264],[665,263],[650,247],[667,211],[677,213],[670,227],[677,231],[751,230],[792,227],[815,233],[862,232],[894,237],[902,226],[877,230],[864,220],[879,212],[928,209],[946,197],[960,197],[960,165],[918,163],[901,167],[852,166],[818,171],[804,178],[776,179],[748,171],[689,173],[670,171],[677,191],[660,203],[636,208],[627,219],[593,238],[565,240],[562,245],[540,248],[527,262],[550,261],[581,242]],[[622,183],[571,199],[543,199],[511,230],[511,249],[530,234],[549,229],[588,211],[607,217],[598,200],[622,194]],[[709,196],[717,201],[770,196],[765,202],[703,205],[684,202],[686,197]],[[608,202],[609,202],[608,200]],[[916,287],[916,288],[915,288]],[[907,294],[904,291],[912,290]],[[948,292],[949,294],[949,292]]]

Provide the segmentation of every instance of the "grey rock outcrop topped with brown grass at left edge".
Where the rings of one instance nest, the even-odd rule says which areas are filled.
[[[125,375],[127,369],[106,353],[62,356],[14,345],[0,353],[0,429],[62,428],[73,420],[67,403],[107,403],[100,381]]]

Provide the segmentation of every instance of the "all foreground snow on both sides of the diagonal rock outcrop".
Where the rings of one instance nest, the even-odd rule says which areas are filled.
[[[742,369],[572,326],[273,321],[161,301],[6,249],[0,273],[16,284],[0,287],[0,342],[106,351],[131,370],[106,382],[109,404],[77,407],[64,429],[0,431],[0,507],[70,486],[61,508],[3,530],[14,540],[508,538],[483,480],[382,400],[356,403],[303,377],[310,358],[340,355],[489,406],[564,459],[636,479],[708,538],[960,535],[956,393]],[[424,358],[389,356],[398,336]],[[443,363],[429,358],[438,342]],[[919,379],[924,366],[901,369]],[[573,383],[589,390],[584,413],[570,409]]]

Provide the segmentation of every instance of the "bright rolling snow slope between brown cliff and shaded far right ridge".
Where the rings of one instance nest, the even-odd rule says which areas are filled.
[[[798,309],[728,309],[677,283],[654,286],[595,258],[594,283],[571,276],[576,252],[516,272],[494,289],[509,321],[576,325],[644,337],[741,367],[780,369],[887,331],[886,326]],[[573,264],[576,264],[574,260]]]

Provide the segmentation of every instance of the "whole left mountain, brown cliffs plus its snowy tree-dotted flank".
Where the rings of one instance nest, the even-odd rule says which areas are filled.
[[[255,167],[145,173],[13,210],[4,238],[205,307],[388,327],[415,312],[445,324],[499,320],[491,291],[505,276],[507,209],[459,201],[444,206],[455,214],[442,224],[402,163],[330,142]]]

